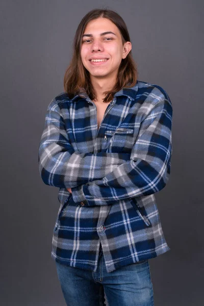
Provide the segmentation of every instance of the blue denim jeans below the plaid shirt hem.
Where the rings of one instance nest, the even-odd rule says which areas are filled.
[[[100,250],[96,272],[56,262],[68,306],[154,306],[148,260],[108,273]]]

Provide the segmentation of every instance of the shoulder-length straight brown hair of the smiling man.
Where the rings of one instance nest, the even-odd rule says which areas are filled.
[[[107,18],[117,26],[121,34],[122,44],[126,41],[130,41],[130,35],[126,24],[118,13],[108,9],[94,9],[88,12],[82,18],[75,33],[72,45],[72,60],[64,76],[64,89],[70,98],[82,91],[85,91],[91,100],[95,98],[94,89],[90,82],[89,71],[84,67],[81,60],[81,45],[82,35],[84,34],[87,23],[99,17]],[[129,88],[137,83],[137,66],[131,51],[125,59],[121,60],[115,86],[111,91],[104,92],[106,95],[104,102],[111,101],[114,94],[123,87]]]

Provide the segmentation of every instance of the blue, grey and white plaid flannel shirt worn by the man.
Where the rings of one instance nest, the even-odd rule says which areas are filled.
[[[171,125],[165,90],[141,81],[114,95],[99,129],[85,92],[49,103],[39,171],[59,188],[53,259],[96,271],[101,244],[111,272],[170,249],[154,194],[170,175]]]

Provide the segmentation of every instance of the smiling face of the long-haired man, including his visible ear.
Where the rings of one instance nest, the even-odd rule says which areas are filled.
[[[131,42],[122,44],[120,31],[109,19],[91,20],[83,33],[81,59],[90,78],[117,77],[121,60],[131,50]]]

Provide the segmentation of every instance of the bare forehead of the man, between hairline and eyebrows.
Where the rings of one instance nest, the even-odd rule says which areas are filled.
[[[100,33],[107,31],[111,31],[115,33],[117,36],[120,34],[119,29],[111,20],[100,17],[89,21],[86,25],[84,33],[99,35]]]

